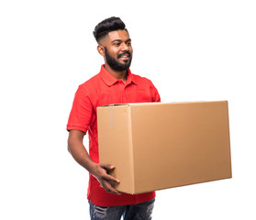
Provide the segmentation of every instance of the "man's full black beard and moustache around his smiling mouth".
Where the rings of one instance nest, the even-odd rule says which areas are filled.
[[[127,71],[132,57],[131,57],[131,53],[129,51],[126,51],[122,54],[118,54],[117,58],[120,58],[123,54],[128,54],[128,56],[130,57],[129,60],[127,60],[126,63],[120,63],[118,60],[116,60],[114,57],[112,57],[109,53],[108,50],[105,47],[105,55],[106,55],[106,63],[110,66],[111,69],[113,69],[114,71]]]

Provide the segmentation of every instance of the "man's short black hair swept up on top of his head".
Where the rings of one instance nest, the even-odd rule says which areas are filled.
[[[119,29],[128,31],[125,23],[119,17],[108,17],[95,27],[95,39],[99,42],[100,39],[106,37],[108,32]]]

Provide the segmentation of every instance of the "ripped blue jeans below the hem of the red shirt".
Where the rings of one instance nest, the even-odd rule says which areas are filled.
[[[155,199],[145,203],[103,207],[90,204],[91,220],[151,220]]]

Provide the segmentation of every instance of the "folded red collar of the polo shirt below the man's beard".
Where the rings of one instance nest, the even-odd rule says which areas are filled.
[[[100,74],[100,77],[102,78],[102,80],[108,85],[108,86],[112,86],[114,85],[116,82],[118,82],[119,80],[111,75],[108,71],[106,71],[105,67],[104,67],[104,64],[101,66],[101,70],[99,72]],[[128,69],[128,79],[127,79],[127,82],[126,82],[126,85],[128,85],[129,83],[136,83],[136,80],[134,79],[134,76],[133,74],[131,73],[131,71]]]

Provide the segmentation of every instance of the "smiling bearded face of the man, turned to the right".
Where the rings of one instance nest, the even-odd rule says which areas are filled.
[[[115,71],[127,71],[132,60],[131,39],[126,30],[111,31],[103,40],[106,64]]]

